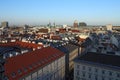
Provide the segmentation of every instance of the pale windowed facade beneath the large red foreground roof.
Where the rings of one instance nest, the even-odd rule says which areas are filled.
[[[65,80],[65,57],[31,72],[20,80]]]

